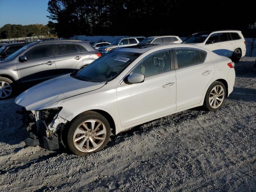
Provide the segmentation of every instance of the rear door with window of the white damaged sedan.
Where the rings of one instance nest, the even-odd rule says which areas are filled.
[[[214,64],[207,53],[194,48],[174,49],[177,81],[177,110],[199,104],[214,77]]]

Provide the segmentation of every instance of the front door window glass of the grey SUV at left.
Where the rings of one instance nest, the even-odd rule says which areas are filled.
[[[28,61],[51,57],[51,45],[41,45],[32,48],[24,56],[26,56]]]

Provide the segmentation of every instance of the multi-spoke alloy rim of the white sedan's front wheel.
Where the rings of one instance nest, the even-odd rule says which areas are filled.
[[[106,132],[106,127],[100,120],[86,120],[74,132],[74,145],[82,152],[93,152],[103,144]]]

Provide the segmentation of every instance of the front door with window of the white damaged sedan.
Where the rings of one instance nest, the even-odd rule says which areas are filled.
[[[122,127],[146,122],[176,110],[176,73],[171,70],[171,57],[170,50],[147,56],[130,72],[144,74],[144,82],[122,82],[118,85],[117,100]]]

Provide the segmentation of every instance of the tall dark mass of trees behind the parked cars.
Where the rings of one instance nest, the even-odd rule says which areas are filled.
[[[253,1],[50,0],[48,18],[59,37],[179,35],[220,29],[255,36]]]

